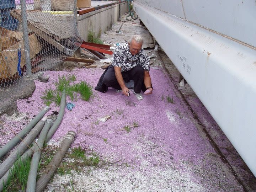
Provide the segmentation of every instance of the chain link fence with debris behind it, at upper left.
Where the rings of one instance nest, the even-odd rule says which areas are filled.
[[[76,0],[0,0],[0,101],[82,43]]]

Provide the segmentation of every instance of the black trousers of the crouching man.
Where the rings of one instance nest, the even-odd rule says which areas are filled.
[[[122,76],[124,82],[129,82],[130,80],[134,81],[133,89],[135,93],[140,93],[140,91],[145,92],[146,87],[144,84],[144,69],[142,66],[137,65],[129,71],[122,72]],[[103,84],[105,84],[107,87],[113,87],[114,89],[121,90],[121,87],[116,79],[114,67],[112,65],[110,68],[108,68],[104,75]]]

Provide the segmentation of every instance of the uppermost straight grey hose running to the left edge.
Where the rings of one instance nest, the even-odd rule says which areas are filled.
[[[10,169],[10,167],[14,164],[14,162],[18,159],[18,156],[22,155],[22,153],[28,148],[34,138],[38,135],[38,133],[42,130],[44,122],[47,117],[43,117],[36,126],[31,130],[31,132],[23,139],[23,141],[17,146],[17,148],[2,162],[0,165],[0,178],[5,175],[5,173]]]

